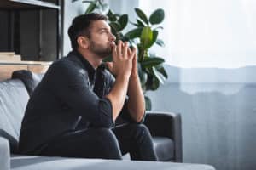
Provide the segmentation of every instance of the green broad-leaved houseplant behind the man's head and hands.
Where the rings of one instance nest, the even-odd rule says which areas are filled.
[[[83,3],[89,3],[85,14],[97,12],[108,16],[108,24],[111,26],[113,34],[117,37],[117,41],[127,41],[137,47],[138,74],[145,96],[146,109],[151,110],[151,102],[146,92],[159,88],[160,83],[164,83],[168,77],[163,67],[165,60],[149,50],[154,44],[161,47],[164,46],[164,42],[158,38],[159,30],[163,29],[160,23],[165,18],[163,9],[156,9],[148,17],[142,9],[135,8],[137,19],[136,22],[131,22],[128,14],[115,14],[109,8],[108,3],[104,3],[103,0],[83,1]],[[133,28],[124,33],[129,24]],[[106,60],[111,60],[111,57]]]

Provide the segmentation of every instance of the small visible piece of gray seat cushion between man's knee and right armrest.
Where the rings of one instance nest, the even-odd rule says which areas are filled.
[[[154,150],[159,161],[170,161],[173,159],[174,144],[172,139],[166,137],[153,137]]]

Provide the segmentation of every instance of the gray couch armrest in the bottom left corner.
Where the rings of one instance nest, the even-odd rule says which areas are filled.
[[[0,167],[1,170],[10,169],[9,142],[3,137],[0,137]]]

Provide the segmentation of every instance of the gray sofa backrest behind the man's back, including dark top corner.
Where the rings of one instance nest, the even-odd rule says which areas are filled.
[[[14,71],[12,79],[0,82],[0,136],[9,140],[12,153],[18,153],[26,104],[43,76],[31,71]]]

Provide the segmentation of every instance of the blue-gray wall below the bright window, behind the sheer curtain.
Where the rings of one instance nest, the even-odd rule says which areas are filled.
[[[218,170],[256,167],[256,66],[184,69],[166,65],[169,78],[149,92],[153,111],[182,115],[183,161]]]

